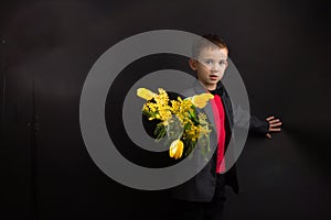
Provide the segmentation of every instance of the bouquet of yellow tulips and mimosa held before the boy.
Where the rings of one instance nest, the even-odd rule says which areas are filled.
[[[200,147],[204,155],[210,151],[211,124],[205,113],[197,114],[196,108],[204,108],[207,101],[214,98],[213,95],[201,94],[185,99],[178,97],[175,100],[170,100],[162,88],[159,88],[159,94],[139,88],[137,96],[147,100],[142,113],[149,120],[160,120],[154,135],[157,140],[167,136],[168,141],[171,141],[170,157],[175,160],[182,157],[184,147],[186,147],[185,156],[190,155],[197,141],[202,143]]]

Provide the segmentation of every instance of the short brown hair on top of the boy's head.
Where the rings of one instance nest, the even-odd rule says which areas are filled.
[[[194,44],[192,46],[192,58],[197,59],[200,52],[203,48],[210,47],[210,46],[212,46],[212,47],[217,46],[218,48],[226,48],[226,51],[228,52],[228,47],[222,37],[220,37],[216,34],[205,34],[200,40],[194,42]]]

